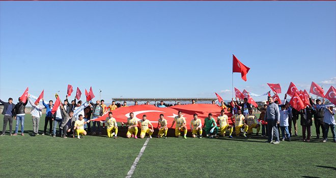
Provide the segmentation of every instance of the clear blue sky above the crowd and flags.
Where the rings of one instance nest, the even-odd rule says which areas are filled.
[[[326,92],[335,32],[336,2],[0,2],[0,98],[29,86],[49,100],[72,84],[105,101],[230,99],[232,54],[251,68],[246,82],[234,73],[241,91]]]

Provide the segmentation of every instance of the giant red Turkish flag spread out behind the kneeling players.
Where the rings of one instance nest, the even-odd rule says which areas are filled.
[[[174,121],[174,117],[177,116],[177,112],[179,110],[182,111],[182,116],[186,118],[186,123],[190,123],[190,121],[193,119],[194,113],[197,113],[199,118],[202,118],[202,123],[204,123],[204,118],[207,117],[210,112],[213,114],[213,118],[217,118],[217,116],[220,115],[221,107],[216,104],[186,104],[164,108],[159,108],[153,105],[134,105],[117,108],[113,111],[113,117],[116,118],[117,122],[127,122],[129,113],[133,112],[134,118],[139,119],[142,118],[143,114],[146,114],[147,120],[154,123],[157,122],[160,114],[164,114],[164,118],[167,120],[167,126],[171,127]],[[228,115],[229,124],[232,125],[230,119],[231,114],[227,111],[225,114]],[[105,121],[107,116],[108,113],[91,121]],[[176,125],[174,125],[174,127],[176,127]],[[187,128],[190,129],[189,124],[187,124]]]

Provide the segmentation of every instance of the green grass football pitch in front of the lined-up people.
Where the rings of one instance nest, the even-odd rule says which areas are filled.
[[[31,118],[26,114],[25,136],[0,137],[1,177],[125,177],[146,141],[119,134],[117,139],[31,136]],[[3,115],[0,119],[2,128]],[[336,143],[331,133],[327,143],[308,143],[298,128],[299,136],[277,145],[260,136],[152,138],[132,177],[335,177]],[[315,138],[314,126],[312,134]]]

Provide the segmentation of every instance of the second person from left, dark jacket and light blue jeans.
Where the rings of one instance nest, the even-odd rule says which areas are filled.
[[[25,105],[27,105],[28,100],[25,98],[25,102],[23,103],[22,97],[19,98],[19,102],[15,105],[14,108],[14,119],[16,120],[16,126],[15,126],[15,133],[14,136],[17,135],[19,131],[19,124],[21,124],[21,135],[24,135],[24,115],[25,115]]]

